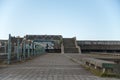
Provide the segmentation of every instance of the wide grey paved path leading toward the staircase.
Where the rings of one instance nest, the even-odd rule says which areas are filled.
[[[63,54],[46,54],[0,69],[0,80],[119,80],[99,78]]]

